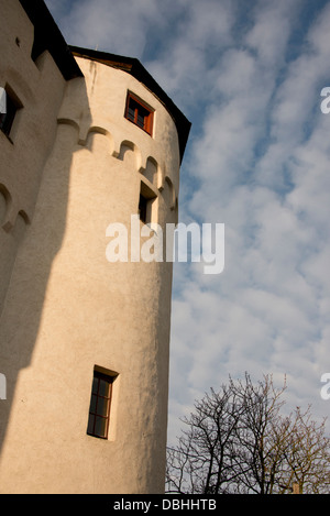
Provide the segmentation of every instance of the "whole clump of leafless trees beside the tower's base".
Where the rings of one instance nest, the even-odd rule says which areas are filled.
[[[210,389],[185,418],[176,447],[167,450],[167,492],[189,494],[304,493],[330,491],[330,448],[324,421],[310,407],[280,414],[286,383],[272,376]]]

